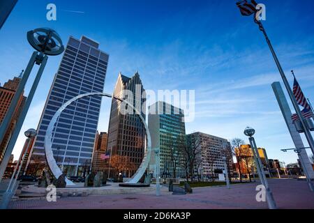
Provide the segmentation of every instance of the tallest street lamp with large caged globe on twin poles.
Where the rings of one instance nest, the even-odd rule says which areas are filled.
[[[36,63],[38,66],[40,66],[40,68],[38,69],[33,85],[31,86],[31,91],[29,91],[27,101],[25,102],[22,112],[19,118],[17,119],[17,123],[13,130],[9,144],[6,148],[3,160],[0,164],[0,182],[4,172],[6,171],[6,166],[8,165],[8,161],[15,146],[17,137],[20,134],[20,130],[24,123],[24,119],[27,116],[29,106],[31,105],[31,101],[33,100],[33,95],[35,94],[40,78],[43,75],[43,71],[45,69],[48,59],[47,55],[57,56],[64,51],[64,47],[60,36],[57,34],[56,31],[52,29],[40,28],[29,31],[27,33],[27,40],[29,41],[29,44],[34,49],[36,49],[36,51],[33,52],[31,59],[29,60],[29,64],[25,69],[24,75],[20,81],[19,86],[17,87],[13,100],[10,103],[8,112],[0,125],[0,141],[2,141],[5,132],[10,125],[10,121],[12,120],[15,108],[17,107],[17,102],[20,100],[20,97],[24,92],[24,88],[27,84],[27,80],[29,79],[29,75],[31,74],[31,70],[33,70],[33,66]]]

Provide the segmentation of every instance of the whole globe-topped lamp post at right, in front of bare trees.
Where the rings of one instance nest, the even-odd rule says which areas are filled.
[[[260,155],[257,151],[257,146],[255,143],[255,139],[253,137],[253,135],[255,134],[255,130],[253,128],[248,127],[244,130],[244,134],[246,136],[248,136],[248,139],[250,140],[250,144],[251,144],[252,151],[253,151],[253,156],[255,159],[257,173],[260,176],[260,181],[261,181],[262,185],[264,185],[264,187],[266,189],[266,197],[267,197],[266,200],[267,200],[268,207],[269,207],[269,209],[277,209],[276,202],[274,200],[273,193],[271,192],[271,189],[268,185],[267,178],[266,178],[265,173],[264,173],[262,161],[260,160]]]

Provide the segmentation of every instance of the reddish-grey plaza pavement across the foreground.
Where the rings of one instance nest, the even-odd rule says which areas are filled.
[[[296,179],[270,179],[279,209],[314,209],[314,192],[306,181]],[[106,194],[89,197],[61,197],[57,202],[45,199],[11,201],[12,209],[267,209],[267,203],[257,202],[257,183],[194,188],[193,194],[172,195],[163,188],[162,195],[154,192],[138,194]]]

